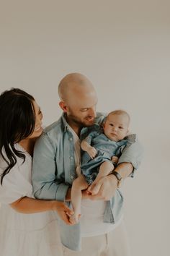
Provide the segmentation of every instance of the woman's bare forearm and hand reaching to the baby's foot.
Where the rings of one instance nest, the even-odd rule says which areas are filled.
[[[12,202],[10,206],[19,213],[41,213],[47,210],[55,210],[66,224],[71,225],[68,217],[73,214],[73,211],[64,202],[58,200],[37,200],[22,197]]]

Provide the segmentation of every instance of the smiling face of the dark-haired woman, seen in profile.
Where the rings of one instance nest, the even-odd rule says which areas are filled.
[[[35,109],[35,129],[32,132],[32,135],[29,136],[29,139],[39,137],[42,134],[42,112],[40,110],[40,106],[37,105],[36,101],[33,101],[34,109]]]

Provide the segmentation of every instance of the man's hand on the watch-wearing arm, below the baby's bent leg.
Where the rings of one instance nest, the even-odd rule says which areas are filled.
[[[115,196],[117,189],[117,178],[110,174],[104,176],[96,184],[91,184],[91,200],[110,200]]]

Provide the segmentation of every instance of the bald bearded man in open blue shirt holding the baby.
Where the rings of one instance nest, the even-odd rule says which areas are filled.
[[[32,179],[35,197],[69,201],[71,184],[80,174],[80,141],[92,124],[102,123],[104,115],[96,113],[97,93],[83,74],[63,77],[58,93],[63,115],[45,129],[35,145]],[[84,191],[80,223],[67,226],[58,220],[65,245],[63,255],[130,255],[122,222],[122,195],[117,184],[120,179],[133,176],[141,154],[140,144],[134,142],[122,152],[116,173],[96,184],[97,195]]]

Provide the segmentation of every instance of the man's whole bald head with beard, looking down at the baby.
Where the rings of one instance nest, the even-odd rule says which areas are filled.
[[[94,124],[97,93],[87,77],[79,73],[67,74],[58,86],[58,94],[59,106],[77,135],[82,127]]]

